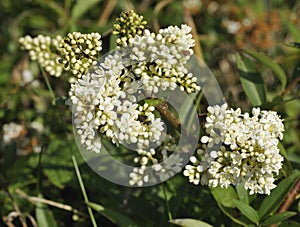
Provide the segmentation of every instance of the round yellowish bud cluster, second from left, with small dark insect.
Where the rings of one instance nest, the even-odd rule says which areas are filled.
[[[64,64],[65,70],[80,78],[92,65],[97,64],[101,50],[102,41],[99,33],[69,33],[60,46],[59,62]]]

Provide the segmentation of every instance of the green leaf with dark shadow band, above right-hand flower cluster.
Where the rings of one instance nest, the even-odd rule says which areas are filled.
[[[253,62],[237,54],[237,67],[241,84],[253,106],[260,106],[266,102],[266,90],[260,73]]]

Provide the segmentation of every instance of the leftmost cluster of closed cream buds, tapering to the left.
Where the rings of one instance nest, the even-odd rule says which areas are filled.
[[[59,58],[59,46],[62,42],[61,36],[50,38],[49,36],[38,35],[31,38],[29,35],[19,39],[22,48],[29,51],[31,60],[38,61],[39,64],[51,76],[59,77],[64,67],[57,62]]]

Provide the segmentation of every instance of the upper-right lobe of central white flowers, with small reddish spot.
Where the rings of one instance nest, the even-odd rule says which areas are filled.
[[[197,78],[185,68],[195,45],[190,32],[187,25],[169,26],[158,34],[144,30],[142,36],[129,39],[130,58],[136,62],[133,72],[148,93],[157,93],[159,88],[174,90],[177,85],[188,93],[200,90]]]

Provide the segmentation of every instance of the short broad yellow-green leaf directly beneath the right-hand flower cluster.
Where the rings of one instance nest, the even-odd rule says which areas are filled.
[[[211,188],[212,195],[214,196],[215,200],[225,206],[225,207],[235,207],[233,203],[233,199],[237,199],[238,196],[233,189],[233,187],[228,188],[221,188],[221,187],[215,187]]]

